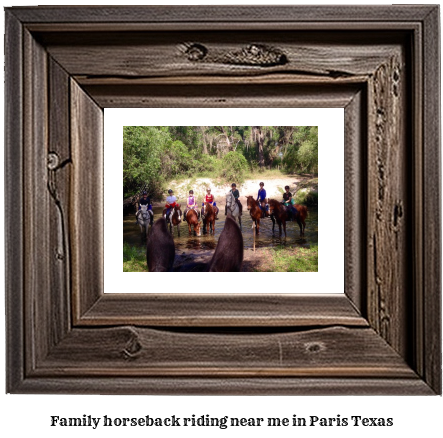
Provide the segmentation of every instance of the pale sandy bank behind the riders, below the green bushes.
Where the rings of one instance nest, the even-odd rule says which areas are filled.
[[[297,191],[297,185],[305,180],[306,177],[302,175],[288,175],[285,178],[260,178],[260,179],[248,179],[243,184],[237,184],[237,188],[240,192],[240,199],[244,201],[244,196],[257,197],[257,191],[260,188],[259,183],[264,182],[266,196],[268,198],[282,199],[284,187],[289,186],[289,191],[294,193]],[[191,183],[192,181],[192,183]],[[194,195],[197,197],[198,202],[202,202],[206,195],[206,189],[211,188],[211,193],[215,197],[215,201],[218,205],[224,205],[226,199],[226,193],[230,190],[230,184],[220,184],[211,178],[196,178],[180,181],[179,183],[171,181],[169,187],[174,191],[175,196],[179,202],[183,202],[188,196],[189,190],[194,191]],[[159,203],[159,205],[162,203]]]

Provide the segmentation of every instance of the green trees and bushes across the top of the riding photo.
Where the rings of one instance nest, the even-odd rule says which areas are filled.
[[[164,197],[167,183],[209,177],[241,184],[257,174],[318,173],[317,126],[125,126],[123,196],[147,189]],[[315,200],[313,201],[314,203]]]

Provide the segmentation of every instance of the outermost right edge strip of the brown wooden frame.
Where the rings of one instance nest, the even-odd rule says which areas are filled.
[[[440,39],[432,37],[439,32],[440,14],[437,8],[426,16],[424,77],[424,162],[423,162],[423,375],[429,385],[441,393],[441,85]],[[421,237],[420,236],[420,237]],[[440,273],[440,275],[439,275]],[[437,304],[440,303],[440,306]]]

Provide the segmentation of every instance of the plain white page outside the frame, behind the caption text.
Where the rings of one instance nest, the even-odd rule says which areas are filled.
[[[58,2],[45,1],[45,4],[60,4]],[[112,1],[95,1],[95,4],[111,4]],[[133,1],[131,4],[139,2]],[[158,2],[157,4],[159,4]],[[161,2],[162,4],[164,2]],[[196,2],[187,2],[198,4]],[[205,4],[209,2],[202,2]],[[218,2],[222,4],[223,2]],[[258,4],[259,0],[243,0],[242,4]],[[268,1],[267,3],[271,3]],[[297,2],[285,2],[279,4],[297,4]],[[310,2],[303,0],[300,4],[326,4],[328,2]],[[334,3],[334,2],[332,2]],[[340,4],[356,4],[357,1],[340,0]],[[385,1],[369,1],[366,4],[389,4]],[[402,3],[405,3],[404,1]],[[12,1],[4,5],[30,5],[35,2]],[[143,4],[148,4],[144,2]],[[225,4],[233,4],[232,1]],[[1,20],[3,26],[4,20]],[[0,69],[0,74],[3,74]],[[3,96],[2,96],[3,98]],[[3,104],[1,105],[3,108]],[[3,118],[0,118],[3,123]],[[0,154],[3,159],[3,154]],[[332,164],[332,163],[331,163]],[[0,165],[3,172],[3,165]],[[3,173],[0,175],[1,195],[3,196]],[[4,197],[2,197],[4,199]],[[3,210],[1,210],[1,222],[3,224]],[[3,244],[4,233],[0,233],[0,243]],[[4,284],[4,266],[0,265],[1,284]],[[4,300],[0,300],[0,330],[4,330]],[[0,336],[0,356],[5,357],[4,335]],[[4,391],[4,360],[1,361],[0,369],[0,393]],[[81,433],[83,437],[121,437],[130,433],[134,437],[147,436],[171,436],[175,432],[181,437],[229,436],[241,437],[252,436],[269,438],[268,428],[238,429],[211,429],[207,428],[181,428],[159,430],[132,428],[130,430],[119,428],[90,430],[89,428],[51,428],[49,427],[50,415],[66,417],[81,417],[83,414],[91,414],[99,417],[103,415],[114,417],[138,417],[144,415],[167,416],[176,414],[180,417],[192,415],[210,414],[213,416],[257,416],[257,417],[299,417],[318,415],[325,417],[342,417],[350,415],[363,415],[368,417],[393,417],[394,426],[387,428],[281,428],[274,430],[277,436],[300,436],[300,437],[408,437],[408,436],[441,436],[443,432],[441,418],[443,401],[441,397],[152,397],[152,396],[64,396],[64,395],[0,395],[0,433],[4,437],[12,436],[44,436],[45,438],[76,437]],[[246,430],[244,430],[246,429]],[[271,432],[272,433],[272,432]]]

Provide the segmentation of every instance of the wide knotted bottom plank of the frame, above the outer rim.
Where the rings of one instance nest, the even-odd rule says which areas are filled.
[[[248,333],[74,329],[33,375],[396,377],[415,373],[372,329]],[[174,348],[171,348],[171,347]]]

